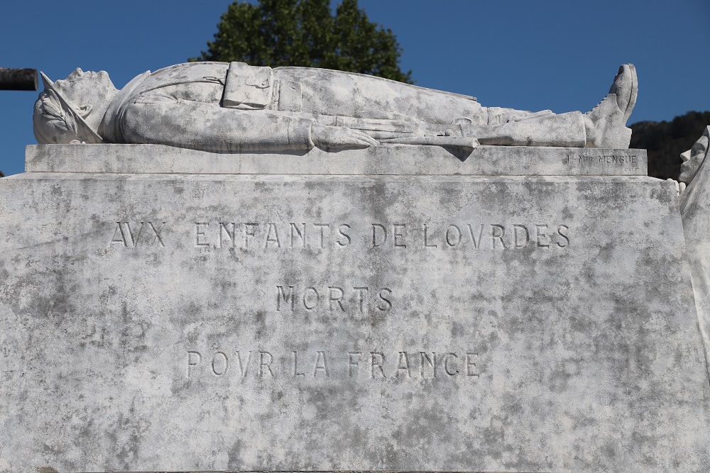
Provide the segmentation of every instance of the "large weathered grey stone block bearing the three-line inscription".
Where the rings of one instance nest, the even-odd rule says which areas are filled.
[[[706,472],[678,205],[649,177],[1,179],[0,471]]]

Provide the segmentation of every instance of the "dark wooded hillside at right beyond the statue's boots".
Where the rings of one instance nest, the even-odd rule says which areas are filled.
[[[648,175],[660,179],[678,179],[680,153],[689,150],[706,126],[710,125],[710,111],[689,111],[672,121],[640,121],[629,128],[630,148],[648,152]]]

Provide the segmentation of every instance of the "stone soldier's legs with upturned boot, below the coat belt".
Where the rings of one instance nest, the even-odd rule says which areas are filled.
[[[628,148],[630,130],[625,125],[638,90],[635,69],[623,65],[609,94],[593,110],[557,115],[486,108],[472,97],[364,74],[305,67],[274,72],[282,89],[284,84],[297,85],[297,94],[290,94],[295,101],[279,99],[279,109],[316,116],[408,118],[426,123],[427,134],[439,134],[441,127],[451,135],[471,136],[488,145]]]

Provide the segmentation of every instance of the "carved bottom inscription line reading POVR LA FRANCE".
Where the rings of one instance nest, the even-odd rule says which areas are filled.
[[[185,377],[297,379],[451,379],[480,377],[479,353],[466,351],[188,350]]]

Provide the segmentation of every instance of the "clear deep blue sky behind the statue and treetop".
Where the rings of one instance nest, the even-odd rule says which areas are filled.
[[[228,0],[15,1],[0,9],[0,67],[63,79],[106,70],[123,87],[195,56]],[[633,62],[629,123],[710,110],[709,0],[360,0],[393,30],[417,84],[486,106],[586,111]],[[337,4],[337,1],[334,1]],[[41,88],[41,87],[40,87]],[[37,92],[0,91],[0,169],[23,172]]]

